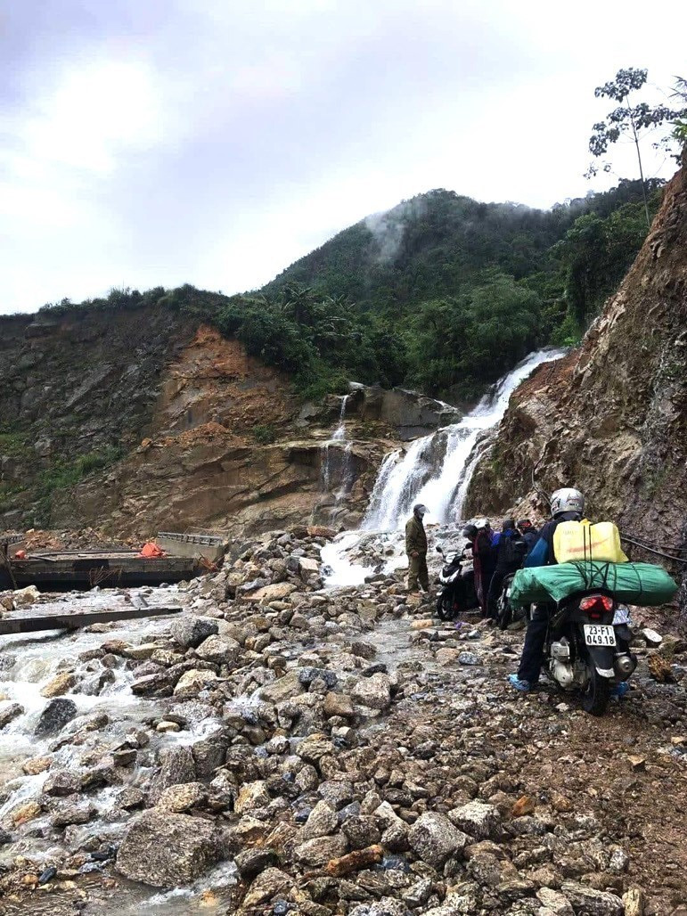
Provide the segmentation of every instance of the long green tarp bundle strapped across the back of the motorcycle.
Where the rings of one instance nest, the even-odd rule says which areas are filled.
[[[670,575],[653,563],[559,563],[518,570],[510,590],[510,603],[562,601],[575,592],[605,589],[629,605],[664,605],[677,592]]]

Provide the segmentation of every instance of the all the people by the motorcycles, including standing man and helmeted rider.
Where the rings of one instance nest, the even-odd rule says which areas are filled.
[[[427,533],[422,522],[427,511],[422,505],[413,507],[412,517],[406,525],[410,592],[416,592],[419,584],[425,591],[430,588]],[[563,521],[580,521],[583,513],[583,494],[573,487],[563,487],[551,494],[551,520],[540,530],[535,529],[528,518],[517,523],[507,518],[497,532],[492,530],[486,518],[477,519],[463,529],[466,539],[463,554],[473,562],[474,590],[483,616],[496,616],[496,602],[507,575],[522,566],[547,566],[557,562],[553,551],[555,530]],[[550,616],[551,605],[534,605],[518,673],[508,678],[518,691],[532,690],[539,681]],[[620,684],[619,688],[627,690],[627,684]]]

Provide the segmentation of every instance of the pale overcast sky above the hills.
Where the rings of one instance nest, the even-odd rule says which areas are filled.
[[[686,34],[673,0],[0,0],[0,311],[256,288],[432,188],[583,195],[594,86],[670,86]]]

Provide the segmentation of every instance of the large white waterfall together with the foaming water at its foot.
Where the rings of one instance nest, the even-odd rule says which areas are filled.
[[[415,440],[405,455],[400,450],[388,454],[377,474],[363,531],[347,532],[322,551],[322,559],[332,571],[326,583],[339,585],[365,580],[369,572],[365,560],[361,563],[360,557],[353,560],[353,556],[360,552],[362,540],[365,544],[369,542],[369,532],[387,532],[382,537],[387,555],[391,537],[388,532],[398,532],[394,536],[396,556],[387,560],[387,569],[397,567],[402,554],[400,531],[415,503],[428,507],[432,522],[457,523],[474,468],[488,443],[486,434],[503,418],[511,394],[538,365],[560,359],[564,354],[564,350],[552,348],[529,354],[463,420]]]

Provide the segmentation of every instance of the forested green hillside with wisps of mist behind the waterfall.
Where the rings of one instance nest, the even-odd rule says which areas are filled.
[[[661,182],[646,186],[655,212]],[[533,348],[577,343],[646,234],[640,181],[546,212],[430,191],[344,230],[254,293],[113,289],[82,306],[211,322],[289,373],[302,398],[355,379],[472,399]],[[44,311],[80,320],[82,306]]]

